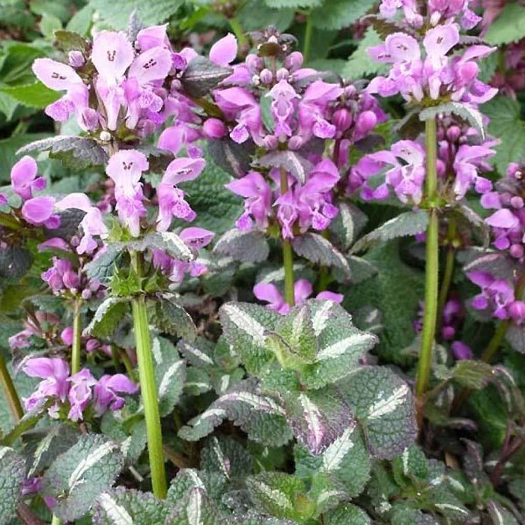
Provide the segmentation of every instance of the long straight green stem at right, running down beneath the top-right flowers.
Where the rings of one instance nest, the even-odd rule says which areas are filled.
[[[432,349],[436,334],[439,288],[439,220],[437,215],[437,125],[435,119],[425,121],[426,200],[429,206],[426,232],[425,315],[421,337],[421,352],[417,370],[416,394],[421,399],[430,379]]]

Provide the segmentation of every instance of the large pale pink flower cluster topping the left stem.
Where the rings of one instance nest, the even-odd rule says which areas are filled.
[[[181,99],[179,92],[180,77],[197,55],[189,48],[175,53],[166,27],[144,28],[134,43],[125,33],[100,31],[89,54],[70,51],[69,64],[49,58],[35,60],[37,78],[49,89],[64,92],[46,113],[58,122],[74,115],[82,130],[106,132],[101,140],[110,140],[111,133],[121,127],[144,137],[180,113],[192,121],[195,117],[191,110],[188,114],[188,100]],[[228,52],[224,41],[219,41],[211,59],[227,64],[235,58],[226,59]]]

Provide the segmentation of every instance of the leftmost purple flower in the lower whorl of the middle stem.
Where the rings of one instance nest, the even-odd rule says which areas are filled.
[[[244,213],[235,225],[239,229],[266,228],[271,215],[271,189],[265,178],[256,171],[250,171],[243,178],[226,184],[236,195],[244,197]]]

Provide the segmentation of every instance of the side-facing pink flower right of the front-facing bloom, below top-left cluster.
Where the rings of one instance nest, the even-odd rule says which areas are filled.
[[[159,218],[157,229],[166,232],[171,225],[173,217],[191,222],[195,218],[195,212],[185,201],[184,192],[176,187],[185,181],[192,181],[198,177],[206,161],[204,159],[181,158],[172,161],[166,169],[162,181],[157,187],[159,199]]]

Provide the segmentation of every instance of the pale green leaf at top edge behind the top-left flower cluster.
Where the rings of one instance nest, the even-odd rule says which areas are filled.
[[[157,0],[155,3],[143,0],[91,0],[89,3],[100,17],[114,29],[126,29],[131,14],[136,11],[141,22],[156,25],[175,15],[183,5],[182,0]]]

